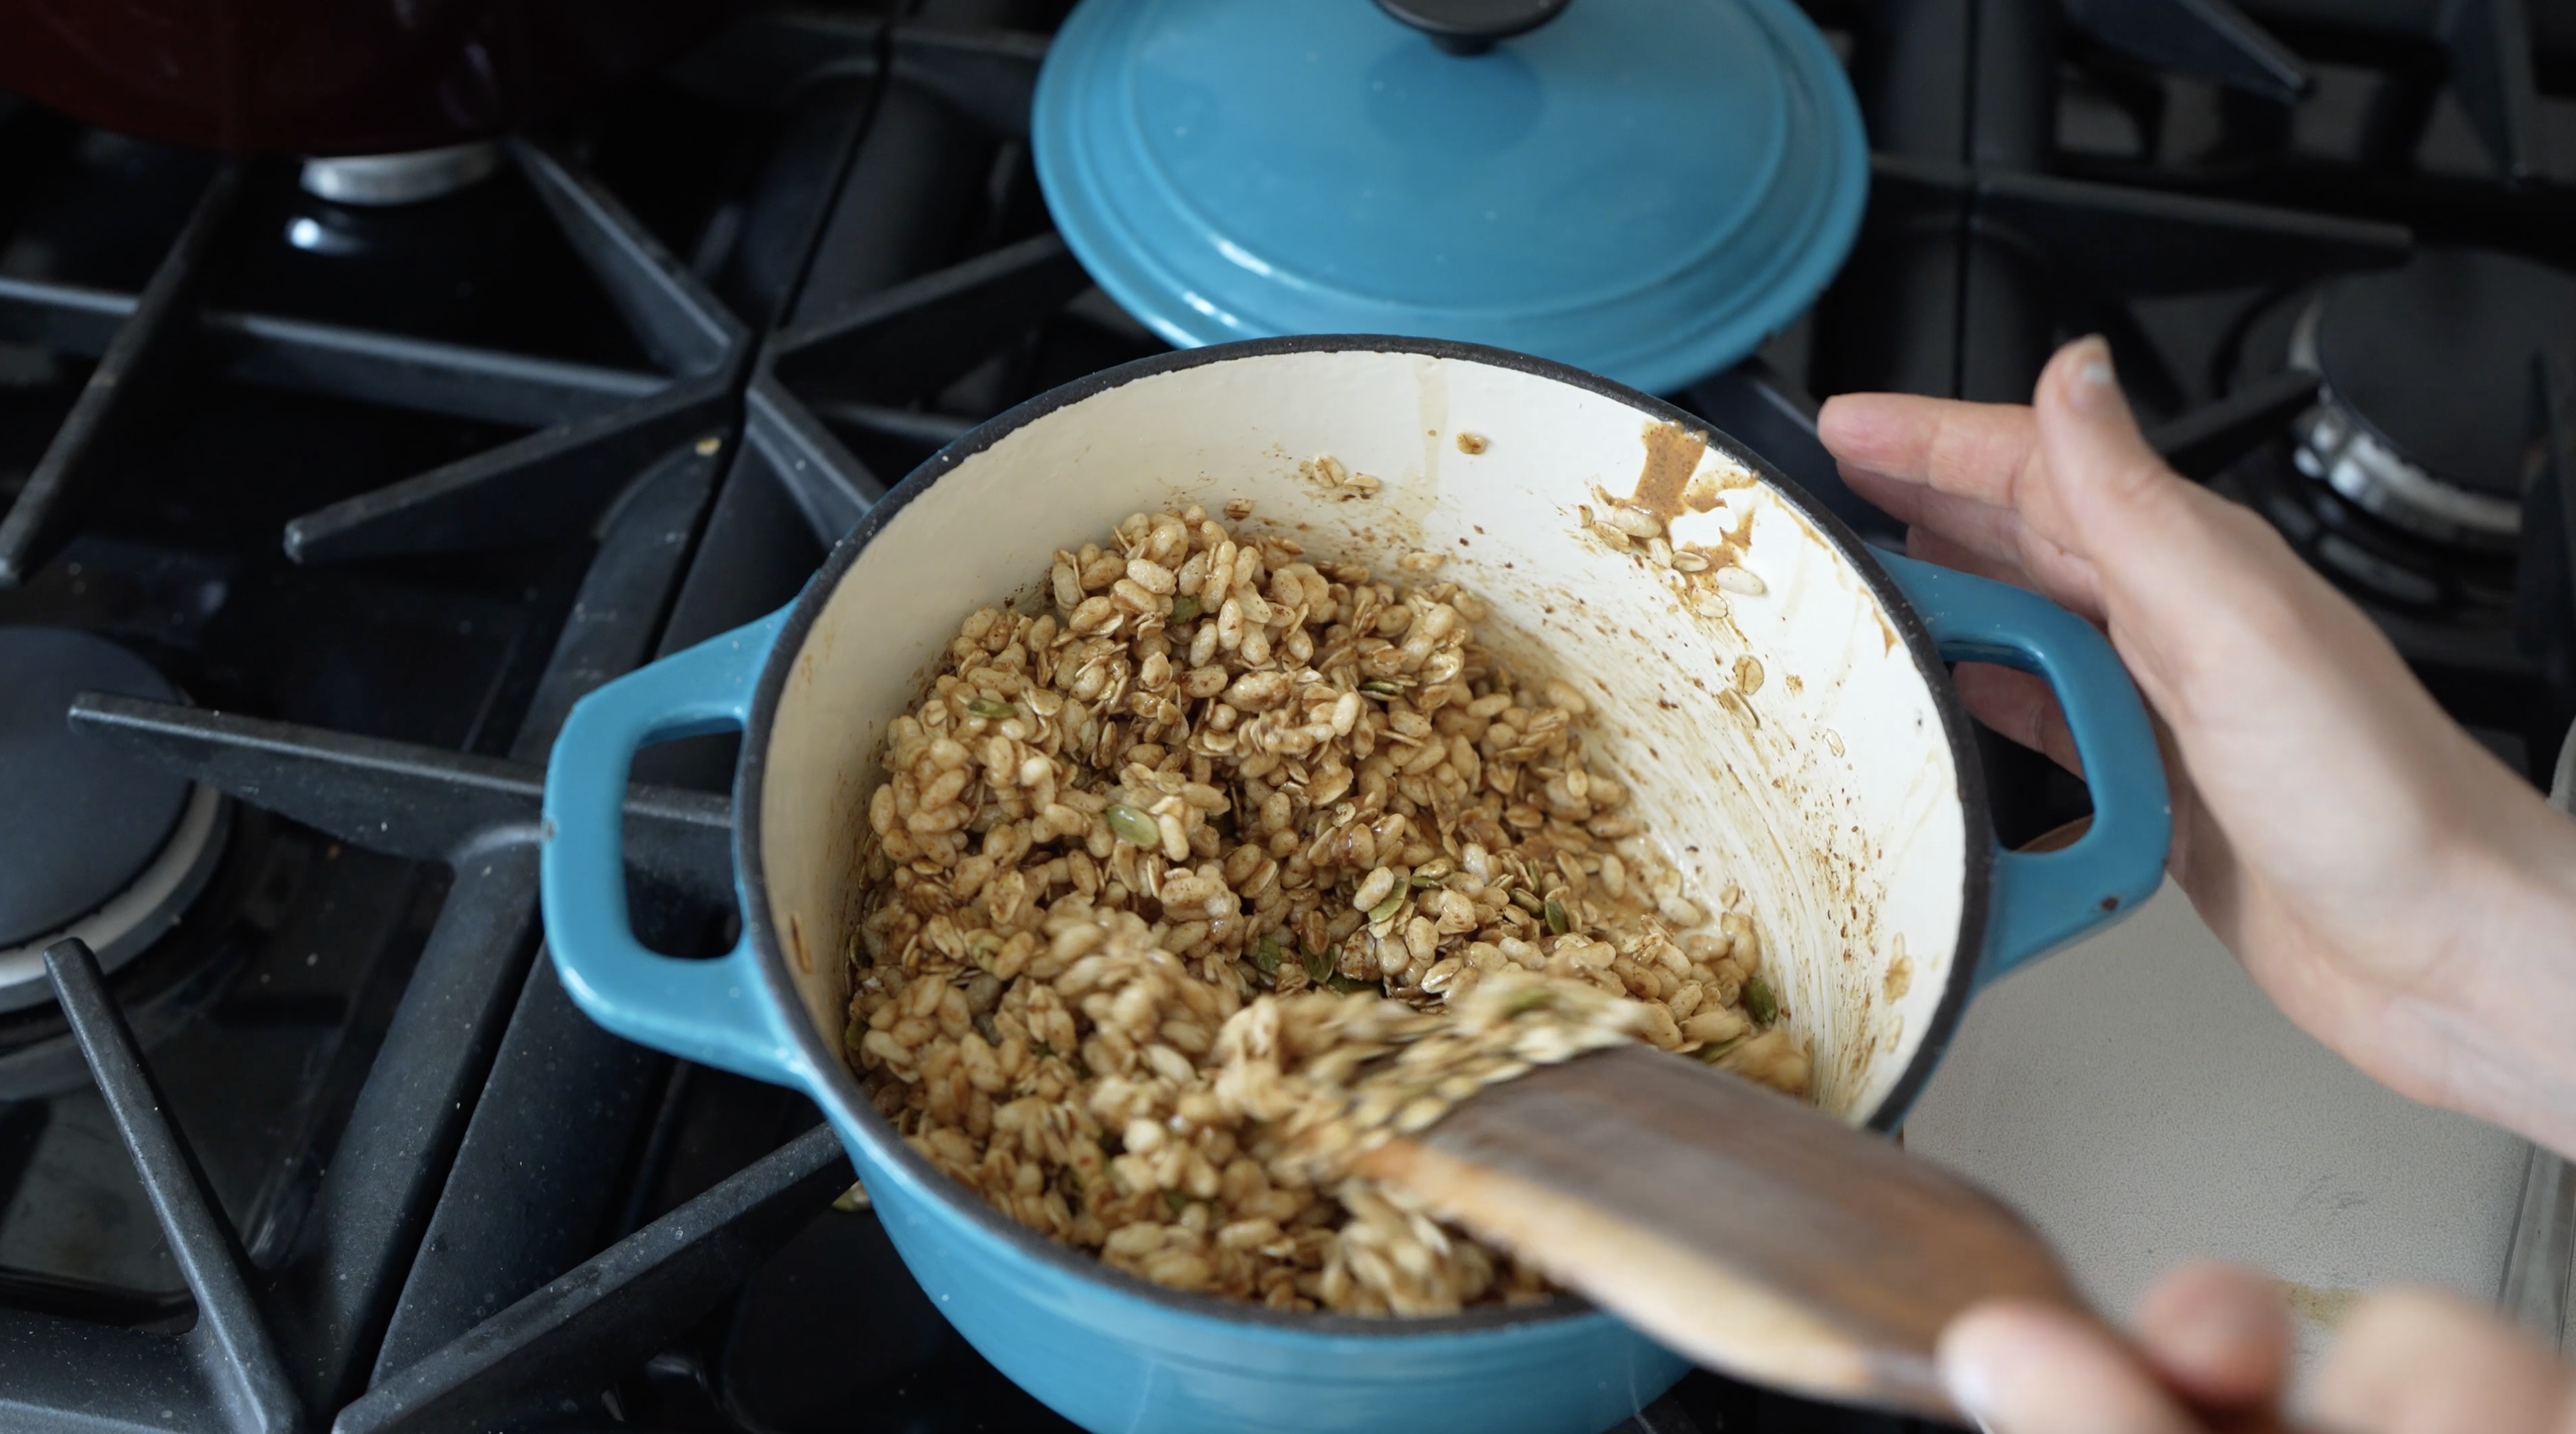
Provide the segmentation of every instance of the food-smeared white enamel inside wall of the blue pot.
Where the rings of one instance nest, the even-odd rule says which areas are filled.
[[[1899,1086],[1950,976],[1976,960],[1986,837],[1940,659],[1886,574],[1677,409],[1494,350],[1306,348],[1327,342],[1193,350],[1038,399],[935,458],[824,569],[757,798],[768,917],[817,947],[811,971],[796,960],[817,1030],[837,1035],[848,1004],[822,947],[853,924],[876,734],[958,620],[1033,600],[1056,548],[1128,512],[1249,499],[1239,528],[1332,561],[1401,577],[1404,554],[1445,554],[1437,579],[1492,608],[1479,636],[1589,698],[1592,752],[1703,901],[1744,891],[1780,1004],[1814,1040],[1816,1102],[1870,1122],[1911,1097]],[[1319,456],[1383,487],[1337,497]],[[1584,528],[1584,507],[1641,481],[1716,497],[1685,499],[1672,535],[1754,582],[1669,572]]]

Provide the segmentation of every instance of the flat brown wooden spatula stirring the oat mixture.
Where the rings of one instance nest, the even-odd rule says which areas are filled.
[[[1839,1403],[1955,1421],[1935,1372],[1953,1316],[2004,1295],[2084,1310],[1984,1189],[1643,1045],[1486,1086],[1358,1169],[1710,1370]]]

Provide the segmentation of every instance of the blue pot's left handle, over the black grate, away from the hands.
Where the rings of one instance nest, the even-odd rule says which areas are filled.
[[[647,950],[626,919],[626,772],[639,747],[742,729],[786,626],[781,608],[608,682],[572,705],[546,762],[538,891],[564,991],[626,1040],[726,1071],[806,1086],[806,1061],[750,932],[714,960]]]

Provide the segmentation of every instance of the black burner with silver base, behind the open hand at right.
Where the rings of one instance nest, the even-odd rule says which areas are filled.
[[[2295,463],[2424,538],[2509,546],[2522,530],[2530,363],[2576,348],[2576,275],[2488,250],[2424,250],[2318,291],[2290,363],[2324,399]]]

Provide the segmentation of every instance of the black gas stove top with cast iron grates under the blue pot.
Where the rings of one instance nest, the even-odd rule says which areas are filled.
[[[2576,28],[2504,0],[1816,0],[1862,239],[1680,394],[1886,535],[1816,396],[2022,399],[2107,332],[2545,775],[2576,718]],[[214,160],[0,95],[0,1424],[1046,1426],[811,1107],[544,960],[598,682],[793,597],[984,417],[1159,350],[1048,227],[1061,3],[755,8],[541,134]],[[1994,741],[2004,839],[2084,811]],[[631,899],[734,935],[732,747],[649,752]],[[62,945],[62,935],[82,940]],[[1901,1429],[1690,1377],[1656,1434]]]

